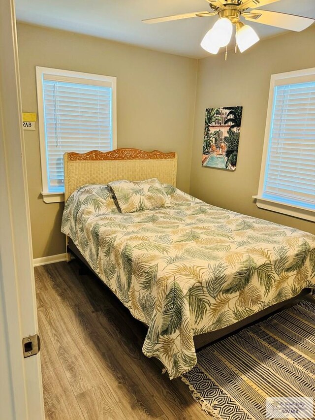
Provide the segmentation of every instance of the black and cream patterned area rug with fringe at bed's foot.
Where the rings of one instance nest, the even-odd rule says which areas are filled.
[[[221,420],[265,420],[268,397],[315,397],[315,304],[303,300],[209,345],[182,380]]]

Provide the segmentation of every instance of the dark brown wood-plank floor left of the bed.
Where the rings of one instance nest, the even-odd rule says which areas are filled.
[[[35,267],[46,419],[209,419],[141,352],[146,330],[76,261]]]

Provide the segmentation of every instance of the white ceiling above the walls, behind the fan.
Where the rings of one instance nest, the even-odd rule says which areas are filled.
[[[15,0],[15,4],[19,21],[194,58],[207,56],[200,41],[217,19],[195,17],[152,25],[141,22],[209,10],[205,0]],[[281,0],[262,8],[315,18],[315,0]],[[285,32],[258,23],[250,25],[260,39]]]

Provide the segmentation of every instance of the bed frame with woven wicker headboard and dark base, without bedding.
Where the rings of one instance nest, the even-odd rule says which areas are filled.
[[[139,149],[116,149],[111,152],[93,150],[88,153],[69,152],[64,154],[64,201],[78,187],[84,184],[108,184],[111,181],[126,179],[141,181],[158,178],[160,182],[176,186],[177,154],[162,153],[158,150],[145,152]],[[70,261],[71,254],[84,263],[96,276],[87,260],[82,256],[73,241],[66,236],[66,259]],[[98,277],[98,276],[97,276]],[[236,332],[244,326],[260,321],[262,318],[292,306],[296,300],[310,293],[304,289],[298,296],[277,303],[245,320],[234,323],[217,331],[199,334],[193,337],[195,349],[202,347]]]

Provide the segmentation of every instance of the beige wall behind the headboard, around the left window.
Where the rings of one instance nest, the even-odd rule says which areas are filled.
[[[18,42],[24,112],[37,112],[35,65],[116,76],[118,147],[176,151],[189,191],[196,60],[21,23]],[[38,130],[24,134],[33,256],[61,254],[63,204],[42,201]]]

